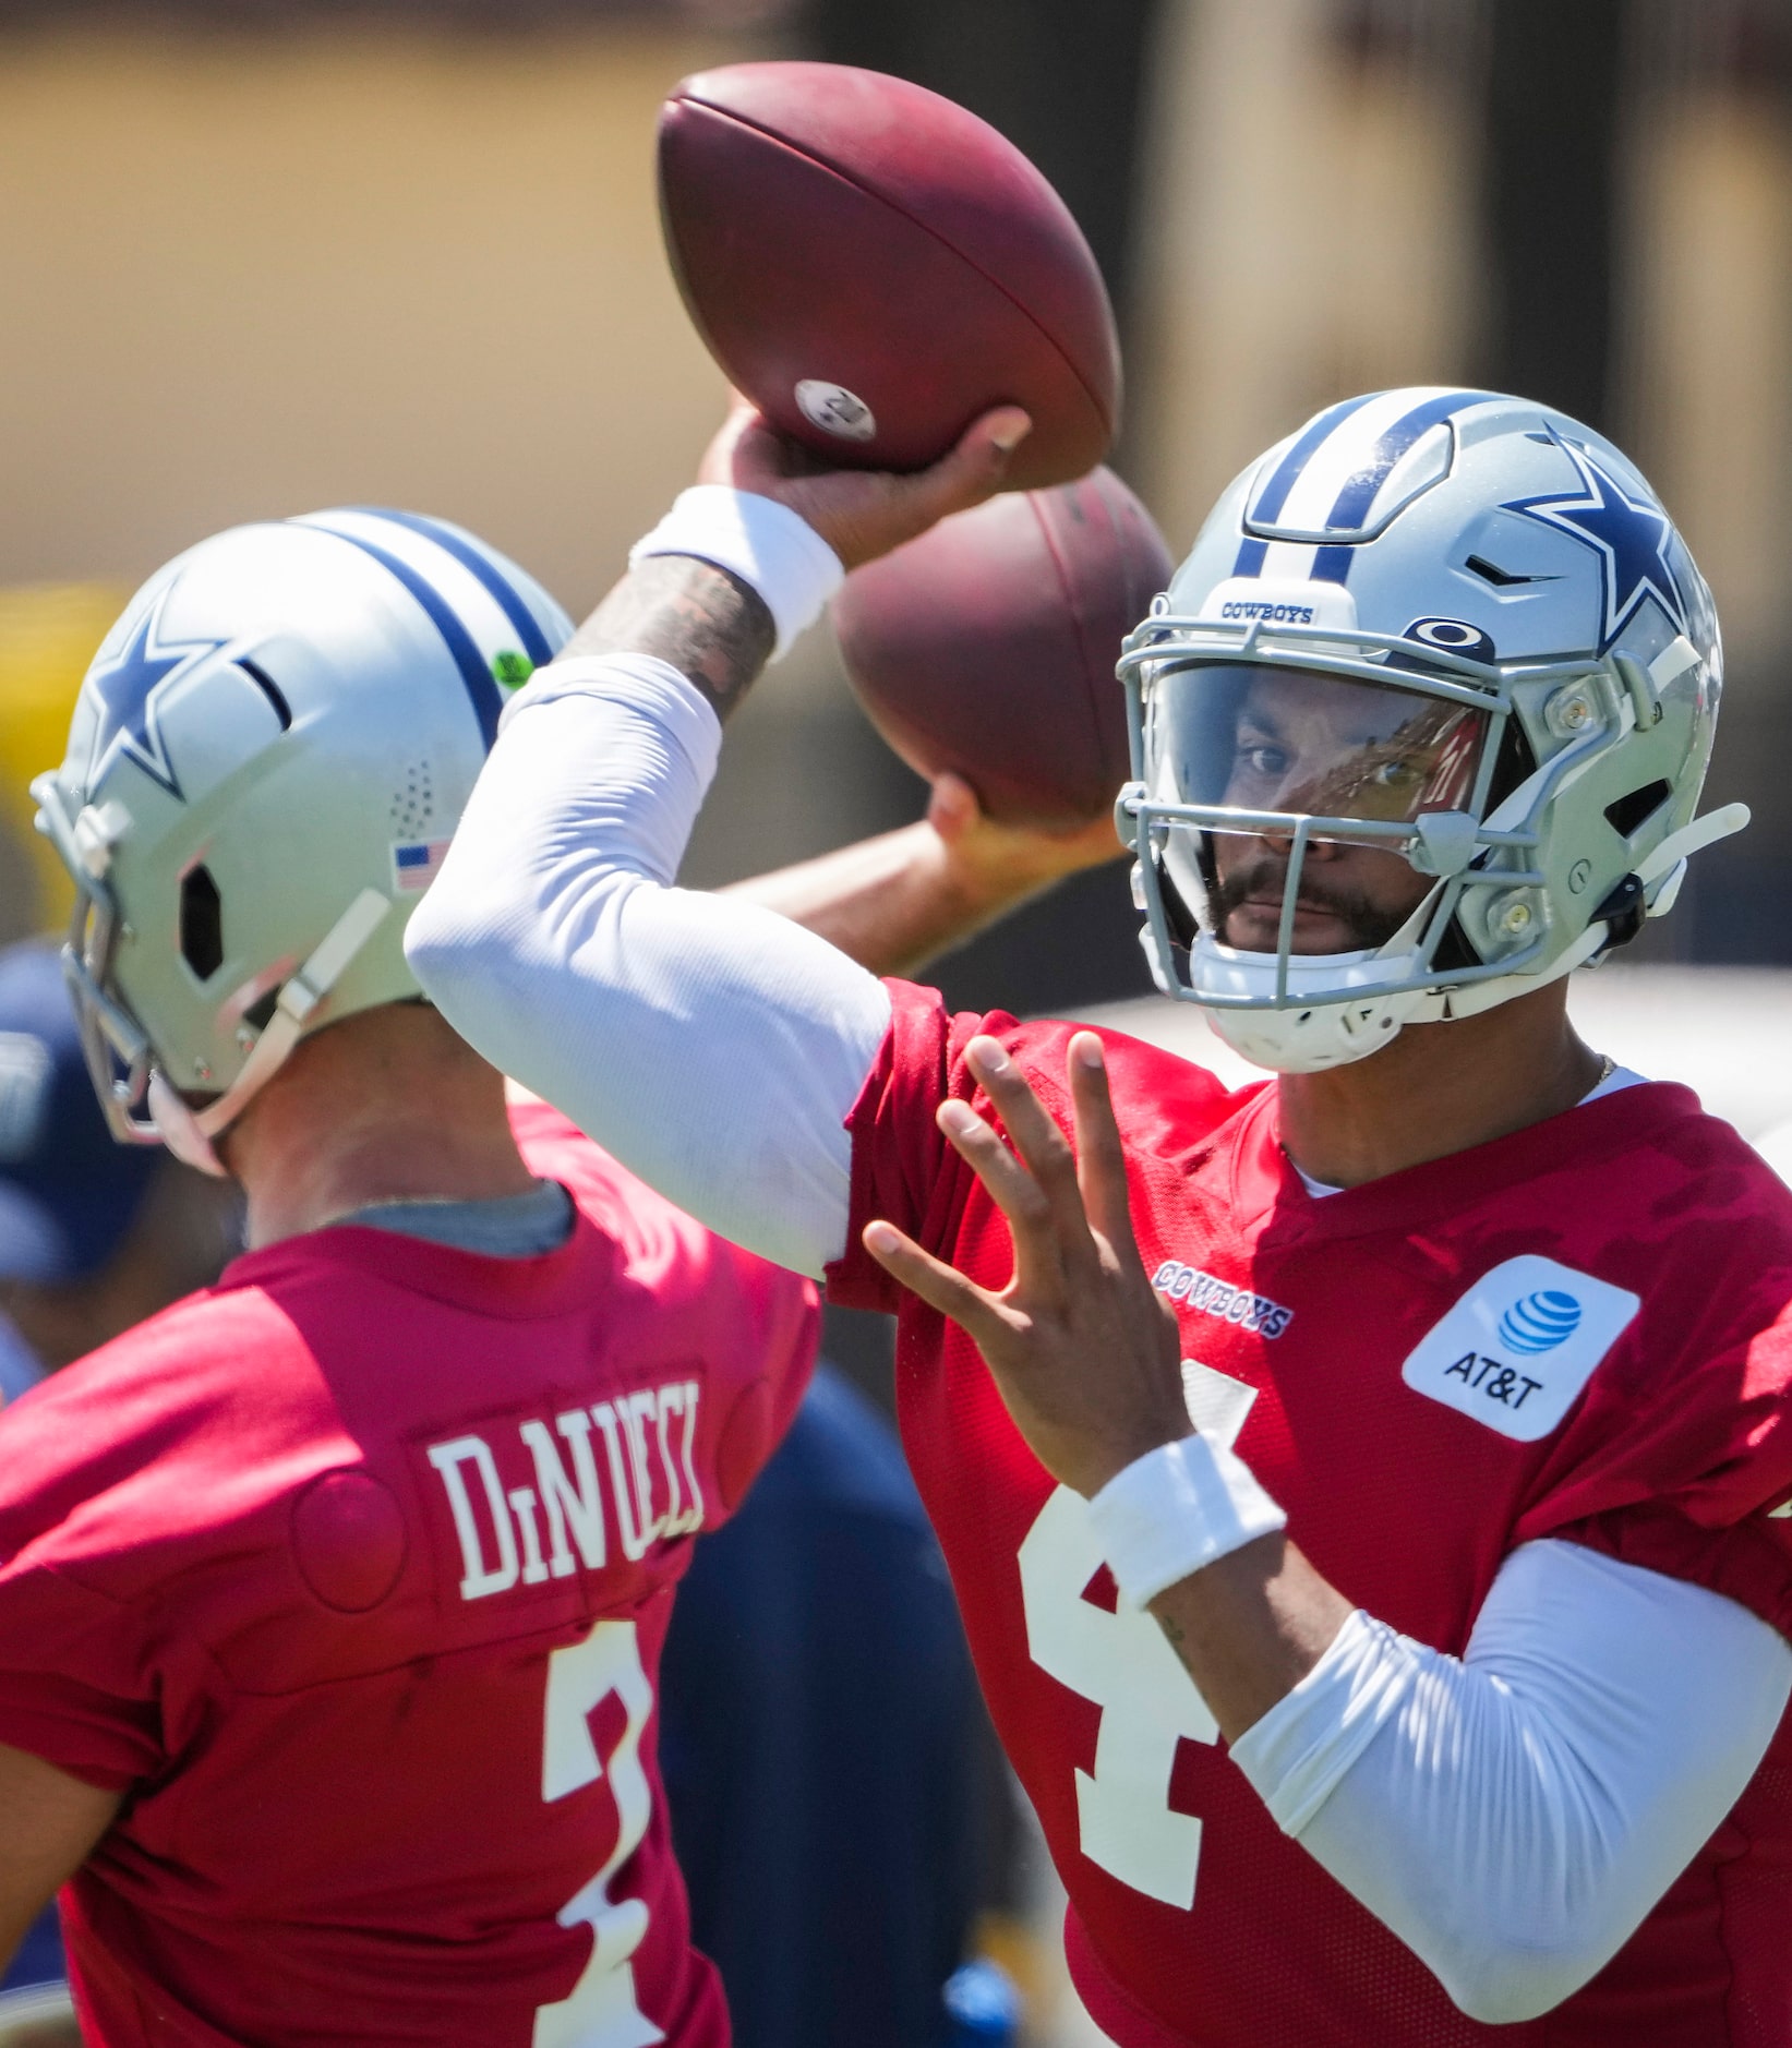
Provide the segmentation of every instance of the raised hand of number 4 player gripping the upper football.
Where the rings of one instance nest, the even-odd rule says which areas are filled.
[[[698,483],[776,498],[834,549],[848,569],[913,541],[950,512],[969,512],[1001,489],[1008,459],[1032,430],[1020,406],[995,406],[932,469],[827,469],[786,440],[743,397],[709,444]]]

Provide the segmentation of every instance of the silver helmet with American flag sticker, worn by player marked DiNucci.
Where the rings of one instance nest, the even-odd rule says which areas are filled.
[[[211,1139],[305,1032],[420,993],[410,911],[569,633],[483,541],[371,508],[215,535],[131,598],[33,782],[119,1139],[221,1171]]]

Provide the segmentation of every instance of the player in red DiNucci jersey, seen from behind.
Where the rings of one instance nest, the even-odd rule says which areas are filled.
[[[0,1419],[0,1956],[72,1876],[94,2048],[727,2040],[655,1669],[815,1294],[508,1112],[401,950],[567,633],[457,526],[238,528],[131,600],[37,782],[115,1130],[227,1167],[250,1235]],[[866,956],[1102,852],[940,797],[860,854]]]

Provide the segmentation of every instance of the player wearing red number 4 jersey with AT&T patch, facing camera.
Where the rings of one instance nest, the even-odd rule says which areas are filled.
[[[1223,496],[1122,662],[1120,809],[1161,987],[1276,1073],[1229,1096],[672,887],[717,713],[909,487],[733,422],[518,705],[424,985],[709,1223],[899,1311],[1116,2042],[1780,2048],[1792,1200],[1565,999],[1743,821],[1694,815],[1679,535],[1610,442],[1477,391],[1333,406]]]

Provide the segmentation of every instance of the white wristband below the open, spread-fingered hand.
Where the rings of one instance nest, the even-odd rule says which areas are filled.
[[[1288,1526],[1245,1460],[1210,1436],[1135,1458],[1090,1501],[1090,1520],[1126,1608]]]

